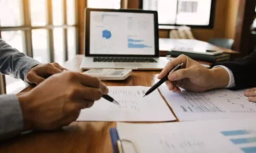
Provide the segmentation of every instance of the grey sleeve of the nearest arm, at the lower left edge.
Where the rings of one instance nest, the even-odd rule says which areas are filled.
[[[23,116],[16,95],[0,95],[0,141],[23,130]]]

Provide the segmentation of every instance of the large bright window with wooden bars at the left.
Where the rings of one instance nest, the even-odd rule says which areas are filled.
[[[63,64],[78,53],[78,0],[0,0],[2,38],[42,63]],[[7,93],[23,82],[6,77]]]

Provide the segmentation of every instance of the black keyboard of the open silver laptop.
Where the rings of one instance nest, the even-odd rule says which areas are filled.
[[[154,59],[141,59],[141,58],[93,58],[93,62],[143,62],[143,63],[156,63]]]

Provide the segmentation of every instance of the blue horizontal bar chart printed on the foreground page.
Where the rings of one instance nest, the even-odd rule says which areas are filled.
[[[245,129],[222,131],[221,133],[225,137],[229,138],[232,144],[236,144],[236,145],[252,144],[250,146],[240,147],[244,153],[256,153],[256,137],[251,136],[254,133],[251,133],[250,131]]]

